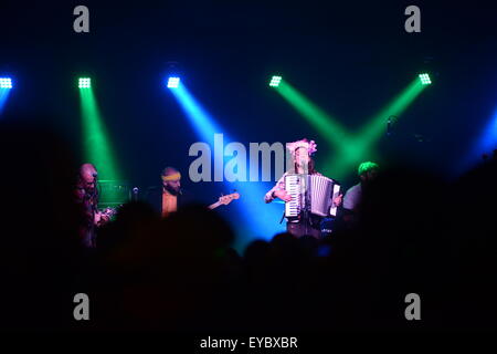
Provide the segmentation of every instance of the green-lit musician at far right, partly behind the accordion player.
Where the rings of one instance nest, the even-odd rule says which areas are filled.
[[[366,162],[359,165],[357,174],[360,181],[350,187],[343,197],[343,220],[349,225],[357,221],[364,189],[374,180],[379,171],[376,163]]]

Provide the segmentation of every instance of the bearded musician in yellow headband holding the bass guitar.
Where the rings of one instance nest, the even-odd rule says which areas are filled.
[[[187,204],[190,198],[181,189],[181,174],[175,167],[166,167],[160,174],[161,186],[150,187],[147,192],[147,201],[162,217],[178,211],[178,208]]]

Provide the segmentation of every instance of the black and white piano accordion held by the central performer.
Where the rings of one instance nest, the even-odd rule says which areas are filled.
[[[319,175],[285,176],[285,190],[292,197],[285,204],[285,217],[298,217],[303,210],[320,217],[335,217],[337,207],[332,200],[340,192],[340,185]]]

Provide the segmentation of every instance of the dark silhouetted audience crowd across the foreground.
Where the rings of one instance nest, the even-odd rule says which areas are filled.
[[[3,123],[1,327],[70,331],[491,330],[497,160],[445,180],[395,164],[364,192],[359,222],[322,240],[288,233],[239,254],[214,210],[162,219],[133,201],[77,242],[76,155],[52,129]],[[91,299],[75,321],[73,298]],[[422,300],[406,321],[404,299]]]

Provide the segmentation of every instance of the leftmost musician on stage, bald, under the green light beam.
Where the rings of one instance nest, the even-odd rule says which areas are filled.
[[[76,202],[81,207],[80,237],[83,246],[96,247],[97,227],[109,220],[109,217],[97,209],[98,190],[96,187],[98,173],[94,165],[83,164],[76,183]]]

